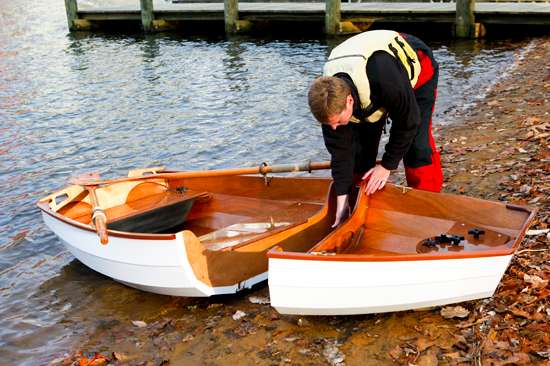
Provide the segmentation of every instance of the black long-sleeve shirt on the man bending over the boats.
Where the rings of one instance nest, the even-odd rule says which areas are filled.
[[[382,166],[393,170],[408,151],[420,125],[420,110],[416,102],[413,88],[407,71],[397,59],[386,52],[373,54],[367,63],[367,76],[370,83],[371,102],[375,109],[383,107],[392,120],[389,141],[382,156]],[[338,74],[346,80],[352,89],[354,99],[353,116],[365,120],[356,87],[345,74]],[[354,138],[361,139],[357,134],[359,129],[355,123],[349,122],[333,130],[328,125],[322,125],[325,146],[331,155],[332,177],[336,194],[349,193],[355,167]]]

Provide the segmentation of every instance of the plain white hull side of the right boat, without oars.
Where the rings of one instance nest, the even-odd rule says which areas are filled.
[[[512,255],[413,261],[269,258],[271,305],[282,314],[351,315],[493,295]]]

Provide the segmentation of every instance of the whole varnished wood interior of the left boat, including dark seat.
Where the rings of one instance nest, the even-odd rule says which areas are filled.
[[[189,230],[207,249],[223,250],[287,230],[320,214],[327,205],[330,185],[327,178],[309,177],[151,178],[100,186],[96,194],[110,232],[173,234]],[[70,186],[40,204],[92,226],[92,204],[85,188]],[[329,227],[326,221],[324,225]]]

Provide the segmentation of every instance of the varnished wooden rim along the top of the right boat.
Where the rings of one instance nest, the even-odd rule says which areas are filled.
[[[397,184],[391,184],[396,188],[403,188],[410,190],[410,187],[405,187]],[[441,193],[448,194],[448,193]],[[474,200],[480,200],[476,197],[470,197]],[[361,199],[361,194],[357,198],[357,202]],[[308,260],[308,261],[335,261],[335,262],[397,262],[397,261],[430,261],[430,260],[447,260],[447,259],[470,259],[470,258],[486,258],[486,257],[501,257],[513,255],[518,249],[519,245],[525,237],[525,233],[529,229],[535,215],[538,211],[536,207],[520,206],[513,203],[483,200],[504,205],[509,210],[523,211],[529,215],[524,220],[523,225],[518,230],[518,235],[514,240],[514,244],[510,247],[504,247],[502,249],[483,250],[475,252],[461,252],[461,253],[417,253],[417,254],[392,254],[392,255],[373,255],[373,254],[345,254],[345,253],[317,253],[317,252],[287,252],[281,247],[275,246],[267,252],[269,259],[287,259],[287,260]],[[354,210],[355,212],[355,210]],[[346,220],[350,220],[353,214]],[[344,225],[345,222],[342,224]],[[508,244],[508,241],[506,244]],[[315,247],[317,244],[312,246]]]

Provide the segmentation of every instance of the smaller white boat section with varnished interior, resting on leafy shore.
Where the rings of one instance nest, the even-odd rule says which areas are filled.
[[[400,311],[490,297],[534,209],[386,185],[307,251],[268,252],[280,313]]]

